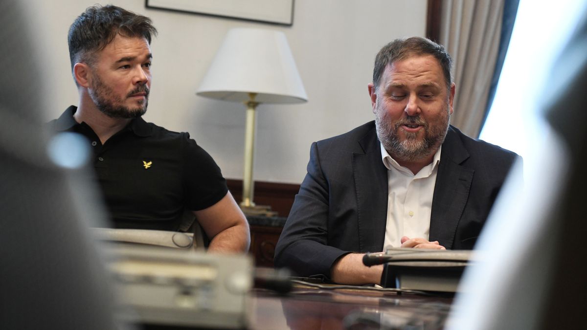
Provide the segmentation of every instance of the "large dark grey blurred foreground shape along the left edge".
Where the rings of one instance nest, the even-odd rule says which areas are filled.
[[[119,329],[87,233],[103,213],[83,180],[84,160],[49,157],[50,145],[63,151],[78,144],[43,135],[48,82],[28,31],[32,19],[22,2],[6,0],[0,22],[0,327]]]

